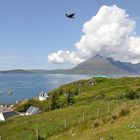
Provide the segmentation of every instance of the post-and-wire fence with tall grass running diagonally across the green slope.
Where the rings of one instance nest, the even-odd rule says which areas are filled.
[[[108,104],[105,110],[97,108],[94,112],[94,116],[86,114],[86,112],[82,112],[81,116],[75,120],[73,120],[73,118],[65,117],[63,124],[58,127],[56,126],[55,132],[53,133],[46,132],[46,130],[42,131],[43,127],[36,128],[36,139],[45,140],[52,135],[69,130],[72,126],[84,125],[84,122],[86,121],[93,121],[93,127],[98,127],[99,125],[112,122],[120,117],[126,116],[131,113],[132,110],[137,108],[140,108],[139,100],[124,102],[122,104],[117,103],[115,105],[115,109],[112,109],[111,105]],[[93,112],[91,112],[91,114],[93,114]]]

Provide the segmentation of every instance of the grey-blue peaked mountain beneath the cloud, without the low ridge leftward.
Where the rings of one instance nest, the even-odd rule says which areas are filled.
[[[140,73],[140,64],[131,64],[115,61],[96,55],[87,61],[68,70],[71,73],[81,74],[137,74]]]

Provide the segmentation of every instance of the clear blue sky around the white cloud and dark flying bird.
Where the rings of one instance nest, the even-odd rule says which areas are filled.
[[[48,63],[48,55],[74,49],[83,24],[102,5],[116,4],[136,21],[140,35],[139,0],[1,0],[0,70],[69,68],[72,64]],[[65,13],[76,13],[73,20]]]

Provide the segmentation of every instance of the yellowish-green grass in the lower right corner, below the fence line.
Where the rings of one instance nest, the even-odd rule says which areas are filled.
[[[128,102],[127,102],[128,103]],[[134,102],[133,102],[134,103]],[[121,117],[109,119],[100,117],[99,124],[95,120],[71,127],[68,131],[52,136],[50,140],[139,140],[140,138],[140,106],[134,103],[132,110]]]

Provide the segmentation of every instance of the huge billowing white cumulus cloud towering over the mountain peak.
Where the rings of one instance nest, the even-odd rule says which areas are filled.
[[[124,62],[140,62],[140,37],[136,23],[125,10],[116,5],[102,6],[97,14],[83,25],[83,35],[75,44],[75,50],[49,54],[53,63],[78,64],[88,58],[101,55]]]

